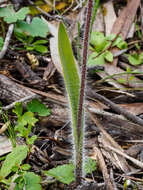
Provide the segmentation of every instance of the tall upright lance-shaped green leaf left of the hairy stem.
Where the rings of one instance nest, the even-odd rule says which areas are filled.
[[[79,103],[80,79],[69,37],[62,22],[59,25],[58,31],[58,48],[72,111],[72,127],[75,144],[77,145],[77,113]]]

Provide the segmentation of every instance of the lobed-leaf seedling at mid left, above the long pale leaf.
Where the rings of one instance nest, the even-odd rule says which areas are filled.
[[[28,111],[23,113],[22,103],[15,104],[13,112],[18,118],[15,131],[18,132],[18,136],[26,139],[28,145],[32,145],[37,139],[36,135],[29,137],[32,127],[35,126],[38,121],[38,119],[35,118],[34,113],[37,112],[39,116],[48,116],[50,115],[50,110],[46,108],[44,104],[41,104],[38,99],[33,99],[31,102],[28,102],[27,109]]]

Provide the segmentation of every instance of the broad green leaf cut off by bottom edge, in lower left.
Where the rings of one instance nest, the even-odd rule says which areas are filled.
[[[33,172],[25,172],[24,174],[26,190],[41,190],[41,178]]]

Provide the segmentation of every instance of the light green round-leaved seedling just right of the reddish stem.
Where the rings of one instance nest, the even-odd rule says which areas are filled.
[[[120,49],[127,48],[127,43],[120,36],[115,34],[104,36],[102,32],[94,31],[91,33],[90,49],[93,52],[88,58],[88,66],[104,65],[105,61],[112,62],[113,54],[108,50],[109,47],[117,46]]]

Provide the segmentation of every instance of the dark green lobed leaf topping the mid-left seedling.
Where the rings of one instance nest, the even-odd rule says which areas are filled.
[[[37,112],[39,116],[50,115],[50,110],[45,104],[42,104],[38,99],[33,99],[27,103],[27,109],[31,112]]]

